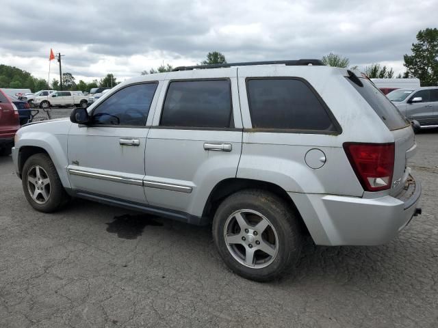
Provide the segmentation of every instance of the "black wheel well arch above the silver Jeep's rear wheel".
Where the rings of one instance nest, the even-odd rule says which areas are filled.
[[[227,198],[229,195],[232,195],[233,193],[236,193],[237,191],[241,191],[244,189],[261,189],[265,191],[270,191],[271,193],[279,196],[282,200],[285,201],[285,203],[291,208],[291,210],[296,213],[300,221],[302,233],[309,235],[309,230],[307,229],[307,226],[305,225],[305,222],[302,219],[298,208],[296,208],[296,205],[294,204],[292,198],[283,188],[279,187],[279,185],[266,181],[239,178],[222,180],[221,182],[216,184],[214,189],[211,191],[209,197],[207,198],[207,203],[205,204],[203,211],[203,217],[205,216],[212,219],[214,217],[214,213],[216,213],[218,206],[225,198]]]

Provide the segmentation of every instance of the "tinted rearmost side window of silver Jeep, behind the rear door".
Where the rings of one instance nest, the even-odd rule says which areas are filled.
[[[253,128],[337,131],[322,101],[300,79],[247,79]]]

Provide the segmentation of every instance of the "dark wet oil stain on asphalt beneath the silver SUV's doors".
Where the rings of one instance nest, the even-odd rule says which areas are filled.
[[[155,221],[152,215],[124,214],[114,217],[114,221],[106,223],[107,232],[117,234],[118,238],[136,239],[142,235],[146,226],[163,226],[163,223]]]

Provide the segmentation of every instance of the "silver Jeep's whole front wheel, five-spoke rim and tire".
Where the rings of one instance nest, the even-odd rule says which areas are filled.
[[[27,159],[22,172],[23,191],[33,208],[44,213],[60,209],[69,197],[47,154],[35,154]]]

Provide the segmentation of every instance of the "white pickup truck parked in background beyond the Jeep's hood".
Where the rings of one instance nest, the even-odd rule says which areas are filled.
[[[84,96],[81,91],[57,91],[49,96],[40,96],[32,100],[34,107],[43,109],[56,106],[75,106],[88,107],[88,97]]]

